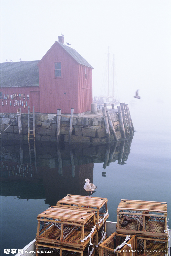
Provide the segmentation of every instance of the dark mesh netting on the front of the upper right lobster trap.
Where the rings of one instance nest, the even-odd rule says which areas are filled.
[[[142,231],[143,215],[139,214],[142,214],[142,212],[126,210],[122,211],[122,214],[119,214],[119,228],[126,230]],[[153,215],[155,214],[148,212],[148,216],[144,217],[144,231],[153,233],[164,233],[164,214],[161,214],[159,217]]]

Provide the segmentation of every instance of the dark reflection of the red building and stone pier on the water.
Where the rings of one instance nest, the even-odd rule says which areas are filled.
[[[16,145],[1,141],[0,195],[45,198],[48,205],[67,193],[86,195],[84,180],[88,177],[93,183],[94,163],[104,163],[103,169],[112,162],[125,164],[131,142],[132,137],[112,145]],[[106,172],[100,175],[106,177]]]

